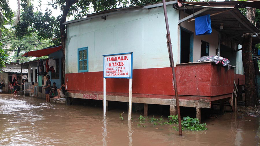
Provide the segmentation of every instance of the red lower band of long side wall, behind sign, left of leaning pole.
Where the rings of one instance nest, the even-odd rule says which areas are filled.
[[[103,92],[103,71],[66,74],[67,90]],[[107,92],[128,93],[129,79],[107,78]],[[133,94],[174,95],[171,68],[133,70]]]

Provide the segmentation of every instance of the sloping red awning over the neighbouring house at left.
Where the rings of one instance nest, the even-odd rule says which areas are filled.
[[[36,50],[36,51],[30,51],[30,52],[25,52],[22,56],[29,57],[29,56],[35,56],[35,57],[41,57],[41,56],[46,56],[51,53],[54,53],[62,48],[61,45],[52,47],[52,48],[46,48],[42,50]]]

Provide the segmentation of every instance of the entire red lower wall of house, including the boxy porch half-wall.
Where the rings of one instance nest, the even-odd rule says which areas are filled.
[[[177,65],[176,78],[179,95],[217,96],[233,92],[234,69],[228,70],[210,62]],[[66,80],[68,92],[103,94],[103,71],[67,73]],[[128,93],[129,79],[107,78],[108,95]],[[171,68],[133,70],[133,94],[139,94],[138,97],[171,98],[175,95]]]

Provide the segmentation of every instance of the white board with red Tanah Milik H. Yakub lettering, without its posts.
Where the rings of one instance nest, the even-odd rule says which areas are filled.
[[[104,78],[132,79],[133,52],[104,56]]]

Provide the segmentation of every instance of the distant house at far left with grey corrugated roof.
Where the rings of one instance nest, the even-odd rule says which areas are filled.
[[[5,64],[5,67],[1,69],[0,73],[0,81],[5,83],[5,87],[3,87],[3,92],[8,93],[8,83],[12,84],[17,80],[18,83],[22,83],[22,80],[28,79],[28,71],[27,69],[21,69],[20,66],[16,65],[15,62],[10,62],[10,64]],[[22,72],[22,73],[21,73]],[[22,88],[21,88],[22,89]]]

